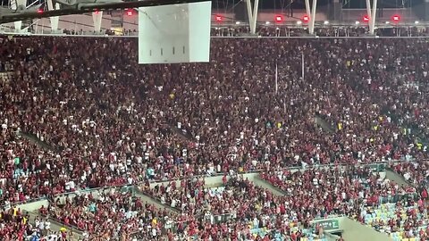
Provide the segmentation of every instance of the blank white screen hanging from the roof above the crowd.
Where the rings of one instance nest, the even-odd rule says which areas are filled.
[[[208,62],[212,2],[139,8],[139,63]]]

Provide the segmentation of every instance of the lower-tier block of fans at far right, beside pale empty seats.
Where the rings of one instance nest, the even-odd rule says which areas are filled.
[[[426,188],[400,186],[375,173],[367,167],[335,168],[273,171],[261,177],[290,195],[292,211],[319,212],[319,217],[332,212],[346,214],[394,240],[396,237],[426,240],[429,237]]]

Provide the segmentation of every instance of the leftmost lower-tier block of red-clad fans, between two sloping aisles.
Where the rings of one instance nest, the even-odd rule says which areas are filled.
[[[127,235],[136,232],[149,239],[159,237],[164,225],[174,218],[174,213],[158,210],[130,192],[120,191],[57,198],[39,212],[84,231],[84,237],[90,240],[130,240]]]

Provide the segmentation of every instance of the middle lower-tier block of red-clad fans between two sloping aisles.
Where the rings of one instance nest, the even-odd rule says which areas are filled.
[[[323,228],[310,225],[315,216],[291,211],[289,197],[274,195],[241,176],[224,176],[222,187],[205,187],[203,179],[186,179],[166,186],[141,188],[161,204],[178,209],[181,220],[191,220],[191,224],[197,221],[199,226],[187,223],[183,227],[185,235],[197,240],[323,236]]]

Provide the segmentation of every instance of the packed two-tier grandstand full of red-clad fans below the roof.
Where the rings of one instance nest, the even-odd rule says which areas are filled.
[[[425,37],[214,37],[171,65],[137,46],[0,38],[1,240],[323,241],[337,216],[429,239]]]

